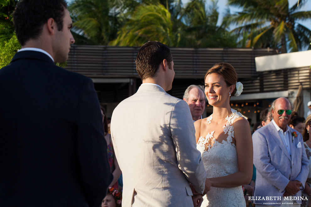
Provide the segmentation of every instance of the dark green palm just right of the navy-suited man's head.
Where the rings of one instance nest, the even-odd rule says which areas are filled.
[[[124,7],[120,0],[74,0],[70,3],[76,44],[108,45],[122,25],[117,6]]]

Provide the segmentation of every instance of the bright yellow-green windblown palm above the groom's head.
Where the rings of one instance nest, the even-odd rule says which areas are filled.
[[[134,11],[112,45],[140,46],[149,40],[157,40],[170,47],[177,47],[181,29],[173,29],[171,13],[161,3],[142,4]]]

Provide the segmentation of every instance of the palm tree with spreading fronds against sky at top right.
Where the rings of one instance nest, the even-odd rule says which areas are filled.
[[[303,6],[308,0],[300,0]],[[297,2],[298,3],[298,2]],[[247,47],[278,47],[281,53],[302,50],[309,44],[311,30],[297,20],[311,18],[311,11],[298,11],[288,0],[228,0],[228,4],[243,8],[232,17],[240,25],[234,29],[247,35]]]

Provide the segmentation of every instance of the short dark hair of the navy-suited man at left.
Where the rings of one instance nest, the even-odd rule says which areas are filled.
[[[36,39],[43,25],[53,18],[58,31],[63,29],[63,17],[67,3],[64,0],[20,0],[13,13],[14,29],[23,46],[30,39]]]

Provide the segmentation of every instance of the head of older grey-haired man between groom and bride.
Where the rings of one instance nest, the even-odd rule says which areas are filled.
[[[205,95],[202,86],[190,85],[183,94],[183,100],[187,102],[192,120],[202,119],[205,109]]]

